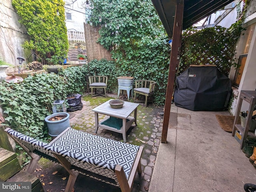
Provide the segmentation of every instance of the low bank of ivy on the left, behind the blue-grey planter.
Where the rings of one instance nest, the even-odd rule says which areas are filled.
[[[21,83],[0,82],[5,125],[36,139],[46,139],[44,119],[52,114],[52,103],[66,100],[71,93],[83,94],[87,73],[87,67],[70,67],[60,74],[35,74]]]

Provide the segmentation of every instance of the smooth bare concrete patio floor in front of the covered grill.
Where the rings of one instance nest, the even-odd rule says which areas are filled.
[[[167,143],[160,143],[149,192],[243,192],[256,169],[216,114],[172,105]]]

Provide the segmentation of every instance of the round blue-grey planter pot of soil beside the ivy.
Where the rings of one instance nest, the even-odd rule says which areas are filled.
[[[51,118],[60,117],[60,116],[64,116],[64,118],[62,120],[50,121]],[[57,137],[66,128],[70,127],[69,114],[66,112],[55,113],[50,116],[47,116],[44,119],[44,121],[46,122],[46,125],[48,127],[48,133],[52,137]]]

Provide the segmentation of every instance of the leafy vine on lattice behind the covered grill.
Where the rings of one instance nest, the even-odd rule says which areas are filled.
[[[188,69],[189,65],[216,65],[228,76],[232,65],[238,67],[234,62],[234,53],[240,34],[245,30],[244,16],[250,0],[243,3],[242,10],[240,3],[237,5],[237,22],[229,28],[216,26],[196,30],[191,27],[184,31],[178,74]]]

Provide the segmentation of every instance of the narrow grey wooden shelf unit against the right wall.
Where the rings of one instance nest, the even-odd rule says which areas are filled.
[[[242,102],[246,101],[250,104],[247,118],[246,118],[246,123],[245,126],[242,127],[240,124],[238,124],[238,120],[240,118],[240,110],[242,106]],[[254,111],[254,106],[256,104],[256,91],[248,91],[248,90],[242,90],[240,93],[240,98],[238,101],[238,108],[236,111],[236,117],[234,120],[234,125],[233,125],[233,131],[232,131],[232,136],[234,137],[236,131],[240,131],[242,133],[242,138],[240,139],[240,149],[243,149],[244,147],[244,141],[246,140],[248,135],[254,136],[255,134],[252,131],[249,131],[250,129],[250,121],[252,119],[252,113]]]

